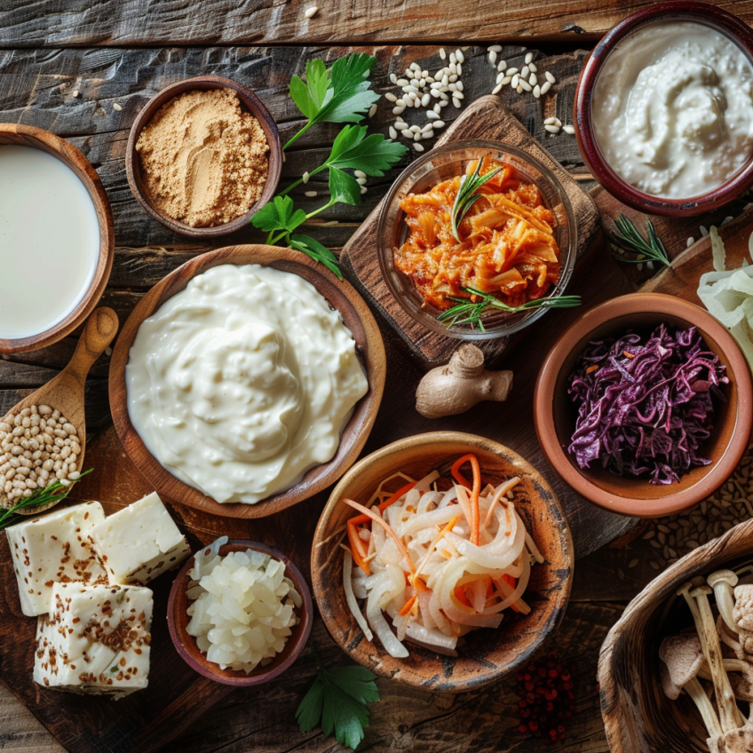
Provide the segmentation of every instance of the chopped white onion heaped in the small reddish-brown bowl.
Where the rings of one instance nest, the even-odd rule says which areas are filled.
[[[279,559],[253,550],[220,557],[226,541],[218,539],[194,558],[186,632],[210,662],[248,674],[285,647],[302,599]]]

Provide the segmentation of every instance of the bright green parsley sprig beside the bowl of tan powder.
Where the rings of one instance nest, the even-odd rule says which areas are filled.
[[[368,80],[375,63],[376,58],[363,52],[345,55],[329,68],[319,59],[309,60],[305,83],[297,75],[290,81],[290,97],[305,115],[306,123],[283,149],[295,143],[314,123],[360,123],[369,107],[379,99],[376,92],[370,91]],[[384,170],[391,168],[408,151],[405,145],[385,139],[382,134],[367,136],[367,130],[365,125],[346,125],[337,134],[325,162],[309,171],[311,178],[322,170],[329,170],[329,202],[308,213],[295,209],[288,194],[304,182],[304,178],[298,178],[254,215],[251,224],[268,234],[267,244],[303,251],[342,279],[332,251],[310,235],[295,231],[306,220],[335,204],[361,203],[361,186],[345,170],[363,170],[370,177],[381,178]]]

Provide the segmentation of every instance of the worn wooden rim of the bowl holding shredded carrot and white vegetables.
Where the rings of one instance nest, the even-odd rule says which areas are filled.
[[[447,457],[452,457],[458,455],[459,451],[461,453],[475,451],[497,456],[499,458],[497,469],[509,469],[511,466],[517,466],[516,472],[523,472],[526,480],[529,480],[535,490],[535,499],[531,500],[530,509],[535,511],[535,506],[541,504],[543,511],[536,519],[540,519],[539,525],[551,527],[553,531],[551,547],[556,550],[561,561],[556,564],[550,563],[546,567],[549,567],[551,574],[559,573],[560,575],[559,581],[556,583],[551,584],[547,581],[544,584],[547,586],[547,590],[546,596],[541,599],[546,601],[546,606],[543,607],[545,612],[541,620],[543,629],[538,632],[532,645],[515,654],[509,661],[507,661],[507,657],[501,659],[500,664],[495,666],[494,669],[489,669],[485,663],[475,662],[473,659],[474,652],[470,648],[465,656],[462,653],[464,648],[461,648],[460,656],[454,659],[433,654],[429,649],[409,646],[411,656],[416,657],[416,666],[408,663],[411,661],[411,657],[408,657],[408,659],[392,658],[384,651],[378,638],[375,637],[375,640],[369,644],[363,637],[361,629],[357,626],[353,615],[350,614],[345,605],[344,595],[341,594],[340,600],[331,598],[337,593],[338,589],[342,591],[343,588],[342,558],[337,558],[337,565],[335,566],[337,567],[338,577],[333,576],[325,581],[322,575],[328,567],[328,553],[331,553],[332,546],[337,547],[337,543],[333,543],[329,539],[332,536],[333,527],[337,525],[337,511],[343,509],[339,505],[340,498],[348,495],[353,480],[359,479],[364,474],[365,469],[375,464],[381,464],[384,460],[390,462],[384,473],[380,472],[379,474],[382,479],[395,470],[403,468],[404,465],[400,458],[403,458],[404,452],[410,451],[411,448],[416,448],[417,459],[415,464],[431,462],[428,459],[422,461],[420,459],[422,453],[430,455],[439,452]],[[460,448],[463,449],[460,450]],[[414,461],[411,461],[411,464],[413,463]],[[483,472],[483,463],[481,468]],[[425,470],[427,472],[431,470],[430,465],[426,465]],[[552,519],[553,515],[556,516],[554,520]],[[541,547],[540,541],[536,543],[544,549],[544,547]],[[339,551],[339,548],[337,548],[337,551]],[[491,685],[510,675],[511,672],[514,672],[519,666],[538,654],[543,649],[546,640],[551,638],[552,634],[559,628],[565,616],[572,588],[574,566],[575,553],[570,527],[567,523],[567,514],[543,475],[525,458],[499,442],[464,432],[429,432],[405,437],[376,450],[376,452],[362,458],[357,464],[353,465],[353,468],[345,473],[345,476],[329,495],[329,500],[321,512],[313,535],[311,553],[313,595],[317,606],[319,606],[321,619],[337,645],[349,654],[353,661],[360,663],[377,675],[396,680],[404,685],[437,693],[464,693]],[[535,601],[534,605],[539,603],[541,602]],[[518,624],[518,622],[513,624]],[[480,640],[487,642],[489,646],[493,646],[495,638],[497,638],[495,632],[491,630],[482,630],[479,636]],[[497,639],[501,640],[500,638]],[[364,649],[363,653],[360,653],[361,647]],[[503,644],[498,651],[504,657],[505,652],[510,652],[511,649],[505,649]],[[416,652],[419,653],[416,654]],[[485,654],[485,658],[488,655],[489,653]],[[437,663],[432,668],[430,662]],[[444,668],[447,662],[452,662],[453,665],[449,678],[445,675]]]

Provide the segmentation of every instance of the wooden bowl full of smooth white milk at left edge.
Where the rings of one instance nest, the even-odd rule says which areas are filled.
[[[0,353],[52,345],[98,304],[113,262],[107,194],[65,139],[0,123]]]

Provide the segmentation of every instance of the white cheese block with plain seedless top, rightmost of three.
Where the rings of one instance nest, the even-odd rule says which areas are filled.
[[[89,537],[112,585],[146,585],[191,553],[155,492],[97,523]]]

